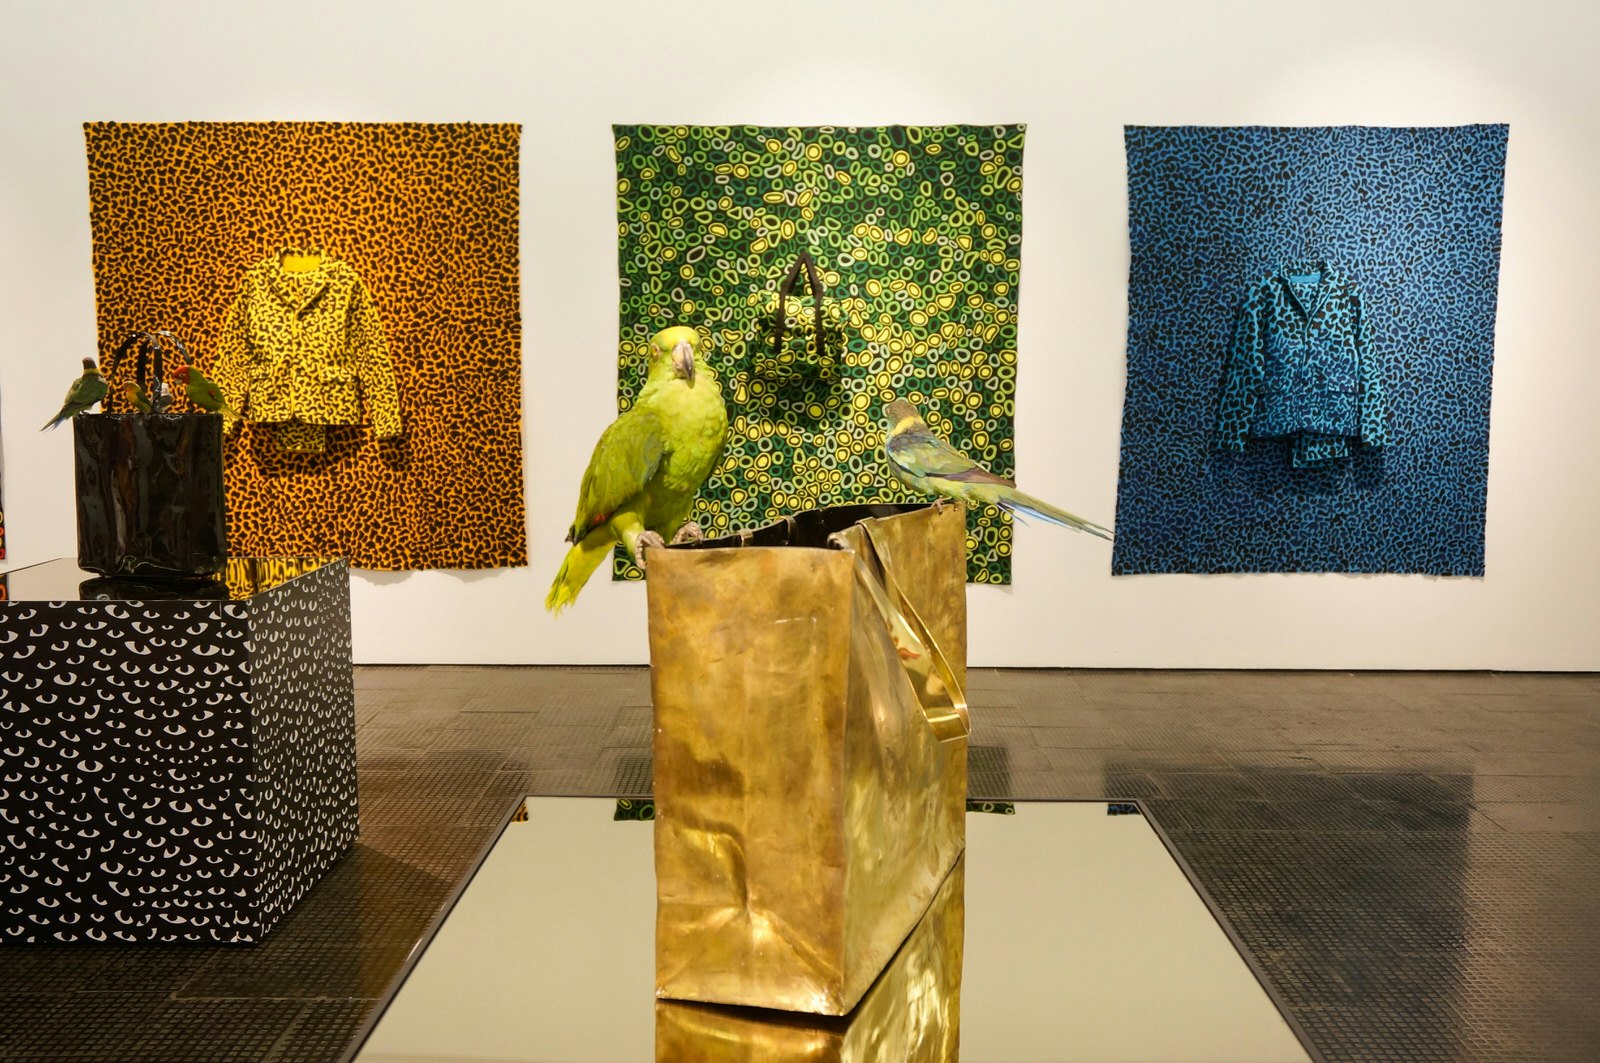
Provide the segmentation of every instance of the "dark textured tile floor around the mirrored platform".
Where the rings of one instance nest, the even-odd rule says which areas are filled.
[[[0,949],[0,1060],[334,1060],[643,669],[362,668],[362,840],[254,949]],[[1331,1060],[1600,1058],[1600,676],[974,671],[978,797],[1141,797]]]

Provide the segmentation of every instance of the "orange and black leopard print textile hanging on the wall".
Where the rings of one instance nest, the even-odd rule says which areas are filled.
[[[288,272],[291,250],[310,251],[294,269],[322,263],[331,291],[344,279],[334,267],[347,267],[357,280],[346,287],[360,285],[376,311],[363,322],[381,328],[394,391],[320,355],[288,368],[278,354],[274,365],[267,354],[222,365],[230,399],[261,386],[251,375],[270,376],[274,394],[298,389],[294,402],[256,399],[274,423],[251,423],[246,402],[246,423],[229,435],[229,552],[341,556],[358,568],[526,564],[520,133],[510,123],[85,125],[101,351],[130,330],[168,328],[213,373],[246,271],[282,258]],[[126,410],[126,373],[117,367],[115,411]],[[176,392],[174,410],[190,408]]]

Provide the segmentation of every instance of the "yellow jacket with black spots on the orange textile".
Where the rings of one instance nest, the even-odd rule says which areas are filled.
[[[222,323],[216,386],[251,421],[363,424],[365,405],[373,435],[398,435],[395,370],[366,285],[336,258],[286,271],[286,255],[245,272]]]

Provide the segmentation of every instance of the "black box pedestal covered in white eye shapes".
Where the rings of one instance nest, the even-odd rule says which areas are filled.
[[[344,560],[0,575],[0,945],[259,941],[355,834]]]

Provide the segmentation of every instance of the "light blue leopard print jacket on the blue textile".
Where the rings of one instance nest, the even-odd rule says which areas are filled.
[[[1250,290],[1234,330],[1218,447],[1291,437],[1296,466],[1387,442],[1384,381],[1355,283],[1325,261],[1285,263]]]

